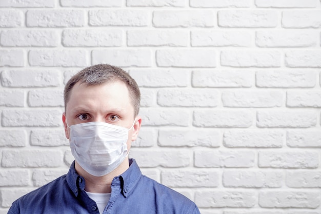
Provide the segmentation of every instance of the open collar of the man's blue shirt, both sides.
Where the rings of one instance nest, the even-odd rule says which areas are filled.
[[[111,185],[121,186],[122,194],[126,198],[133,191],[141,176],[142,172],[136,161],[134,159],[129,159],[129,168],[120,176],[115,177]],[[71,191],[77,197],[79,190],[83,191],[85,189],[85,180],[76,172],[74,161],[72,162],[66,177]]]

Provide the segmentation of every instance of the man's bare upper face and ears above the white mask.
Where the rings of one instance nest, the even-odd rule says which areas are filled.
[[[63,114],[66,138],[69,139],[69,126],[88,123],[106,122],[117,126],[130,128],[127,147],[136,140],[142,119],[135,118],[128,88],[123,82],[109,82],[101,85],[88,86],[75,84],[71,90],[66,112]]]

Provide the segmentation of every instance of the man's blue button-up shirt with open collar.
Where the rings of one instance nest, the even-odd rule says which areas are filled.
[[[194,202],[182,194],[142,175],[136,161],[111,183],[111,197],[106,213],[199,214]],[[95,213],[96,203],[85,192],[85,180],[77,174],[74,163],[62,177],[26,194],[12,203],[8,214],[18,213]]]

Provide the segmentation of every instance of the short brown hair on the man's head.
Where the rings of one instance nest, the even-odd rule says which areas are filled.
[[[132,105],[134,107],[135,116],[137,116],[139,107],[141,106],[141,92],[139,91],[137,83],[123,69],[107,64],[99,64],[85,68],[71,77],[64,90],[65,111],[67,102],[69,101],[71,89],[76,83],[100,85],[117,80],[126,84],[130,93]]]

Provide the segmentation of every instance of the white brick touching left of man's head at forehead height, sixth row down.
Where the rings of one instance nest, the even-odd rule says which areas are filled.
[[[52,89],[31,90],[28,93],[28,105],[31,107],[63,107],[63,91]]]

